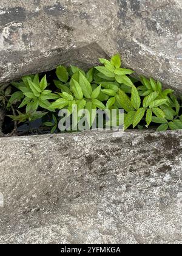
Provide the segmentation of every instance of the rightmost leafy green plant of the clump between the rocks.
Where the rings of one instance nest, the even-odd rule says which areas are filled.
[[[132,87],[128,104],[133,109],[127,112],[124,122],[125,129],[131,125],[135,128],[144,117],[146,127],[149,127],[150,123],[160,124],[157,131],[182,129],[180,104],[173,94],[174,91],[163,90],[161,83],[155,82],[151,78],[148,80],[141,77],[141,81],[143,82],[142,87]],[[142,94],[141,89],[143,90]],[[124,94],[121,91],[120,93]],[[123,107],[126,108],[124,102]]]

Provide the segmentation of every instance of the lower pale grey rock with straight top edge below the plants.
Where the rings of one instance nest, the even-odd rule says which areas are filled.
[[[182,133],[0,138],[1,243],[182,243]]]

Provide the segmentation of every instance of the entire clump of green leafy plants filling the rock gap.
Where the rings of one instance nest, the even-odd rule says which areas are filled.
[[[52,113],[52,120],[44,125],[55,132],[58,126],[57,113],[67,108],[72,115],[77,110],[124,109],[124,129],[144,129],[158,126],[158,131],[182,129],[180,101],[170,89],[163,90],[160,81],[140,76],[133,78],[134,71],[121,68],[121,58],[99,59],[101,66],[90,68],[87,73],[76,66],[56,68],[56,80],[47,83],[46,75],[22,77],[0,92],[0,104],[5,108],[22,108],[24,113],[9,115],[14,121],[24,123]],[[18,102],[20,104],[18,105]],[[46,112],[45,112],[46,111]],[[14,112],[13,112],[14,113]],[[79,119],[82,117],[79,116]],[[92,126],[95,116],[89,120]]]

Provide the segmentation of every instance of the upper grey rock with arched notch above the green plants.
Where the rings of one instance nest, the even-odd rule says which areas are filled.
[[[1,0],[0,82],[115,52],[182,91],[181,0]]]

